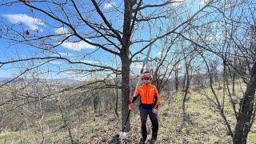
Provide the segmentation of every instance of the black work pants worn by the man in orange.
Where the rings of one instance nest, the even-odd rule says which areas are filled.
[[[158,137],[158,115],[154,114],[152,110],[140,109],[139,111],[142,122],[142,138],[147,137],[146,118],[147,115],[150,115],[150,121],[152,123],[152,138],[156,139]]]

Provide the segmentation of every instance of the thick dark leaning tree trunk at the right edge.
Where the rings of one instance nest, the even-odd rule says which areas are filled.
[[[238,113],[237,124],[234,130],[234,143],[244,144],[248,133],[250,132],[250,126],[252,126],[253,121],[253,111],[254,111],[254,98],[256,89],[256,62],[251,69],[250,82],[246,87],[246,92],[242,101],[240,102],[240,110]]]

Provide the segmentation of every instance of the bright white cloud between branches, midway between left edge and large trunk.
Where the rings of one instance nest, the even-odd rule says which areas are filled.
[[[90,41],[89,39],[86,39],[87,41]],[[82,49],[94,49],[95,46],[90,45],[87,42],[80,41],[80,42],[63,42],[62,46],[70,49],[70,50],[82,50]]]

